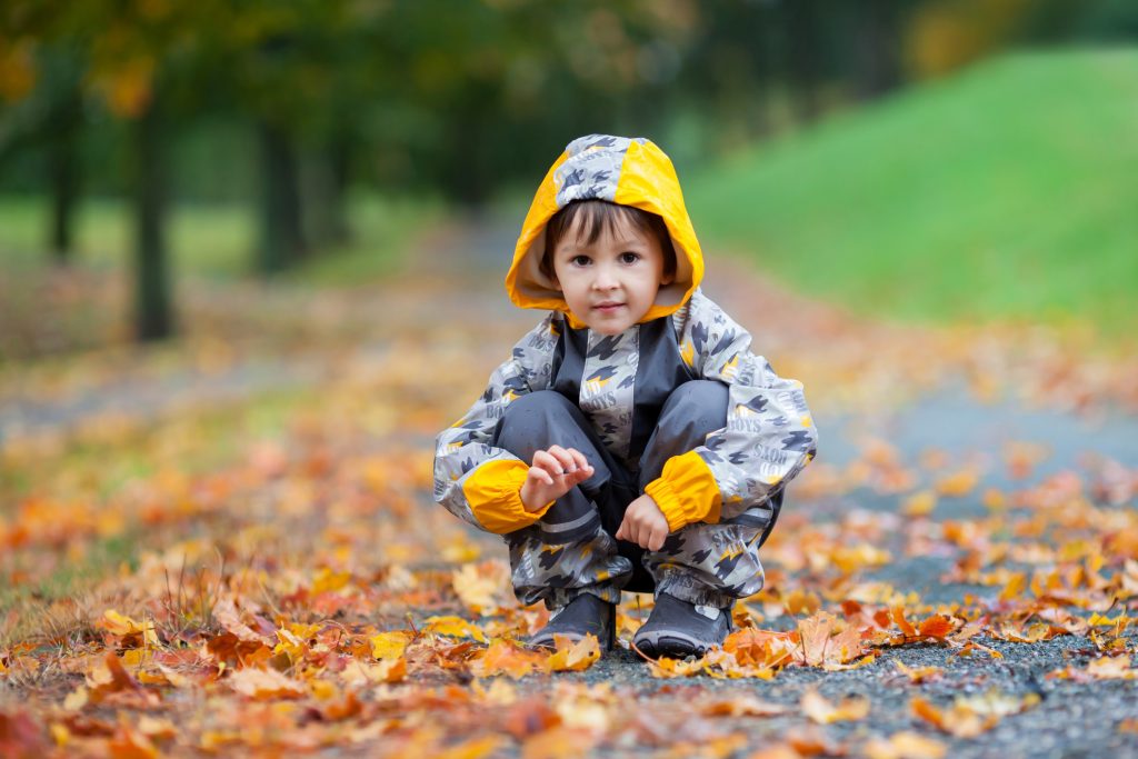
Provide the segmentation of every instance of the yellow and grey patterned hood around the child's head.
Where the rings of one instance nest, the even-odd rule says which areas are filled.
[[[651,140],[607,134],[589,134],[570,142],[542,180],[505,275],[510,300],[522,308],[570,314],[561,291],[541,270],[545,225],[571,201],[587,199],[658,214],[668,226],[676,248],[676,278],[671,284],[660,287],[655,305],[641,322],[667,316],[687,303],[703,279],[703,254],[684,207],[676,170]]]

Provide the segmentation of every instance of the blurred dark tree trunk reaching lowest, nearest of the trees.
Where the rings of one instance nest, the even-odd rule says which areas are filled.
[[[134,327],[139,340],[173,333],[173,306],[166,256],[166,164],[164,123],[151,102],[133,124],[134,166]]]

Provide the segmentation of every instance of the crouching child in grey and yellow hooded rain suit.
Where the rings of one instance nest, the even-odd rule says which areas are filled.
[[[549,315],[444,430],[435,498],[504,536],[530,642],[615,643],[621,591],[655,604],[633,643],[702,654],[762,587],[759,546],[815,454],[797,380],[699,289],[703,257],[668,157],[583,137],[537,190],[505,278]]]

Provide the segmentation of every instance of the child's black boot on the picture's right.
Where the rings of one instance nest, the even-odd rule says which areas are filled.
[[[708,649],[723,645],[731,628],[731,607],[699,607],[660,593],[648,621],[633,636],[633,644],[653,659],[702,657]]]

